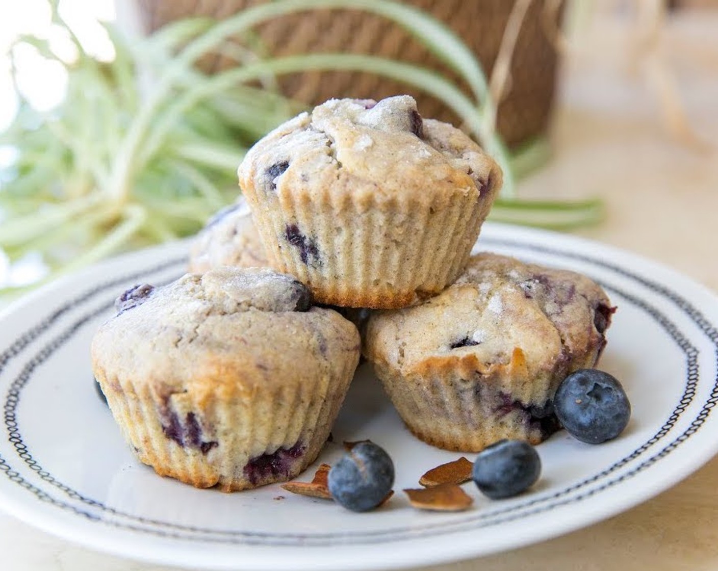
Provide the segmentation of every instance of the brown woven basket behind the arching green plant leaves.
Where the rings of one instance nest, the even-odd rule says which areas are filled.
[[[138,0],[148,31],[189,16],[227,17],[264,0]],[[404,0],[442,19],[474,50],[488,74],[498,54],[513,6],[508,0]],[[556,12],[559,14],[559,12]],[[510,147],[544,134],[556,81],[557,54],[546,35],[544,2],[533,1],[518,34],[510,68],[510,82],[498,108],[498,131]],[[556,17],[560,17],[560,14]],[[556,25],[556,22],[553,22]],[[363,53],[419,63],[452,77],[403,29],[373,14],[351,10],[317,10],[292,14],[258,27],[262,42],[274,55],[305,52]],[[202,68],[226,65],[219,57],[205,58]],[[460,82],[458,82],[460,83]],[[424,116],[457,123],[440,101],[409,85],[356,72],[312,72],[280,80],[286,96],[308,104],[332,97],[379,99],[410,93]]]

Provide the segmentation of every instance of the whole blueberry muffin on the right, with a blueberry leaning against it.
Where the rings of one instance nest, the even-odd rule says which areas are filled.
[[[371,315],[364,351],[421,440],[465,452],[538,444],[559,429],[556,389],[596,365],[614,310],[580,274],[479,254],[437,297]]]

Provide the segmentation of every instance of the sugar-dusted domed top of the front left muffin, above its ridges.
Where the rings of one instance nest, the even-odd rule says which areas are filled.
[[[266,268],[220,267],[163,287],[143,284],[116,302],[93,338],[108,381],[231,398],[262,386],[337,378],[358,361],[359,334],[309,290]]]

